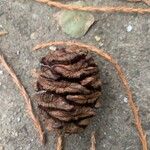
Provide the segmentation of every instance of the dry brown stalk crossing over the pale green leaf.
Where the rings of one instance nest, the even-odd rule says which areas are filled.
[[[133,8],[133,7],[126,7],[126,6],[74,6],[63,4],[60,2],[50,1],[50,0],[35,0],[37,2],[47,4],[49,6],[54,6],[60,9],[67,9],[67,10],[80,10],[80,11],[89,11],[89,12],[104,12],[104,13],[139,13],[145,14],[150,13],[150,8]]]

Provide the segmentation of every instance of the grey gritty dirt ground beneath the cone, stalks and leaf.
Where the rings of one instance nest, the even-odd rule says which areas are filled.
[[[88,0],[87,0],[88,1]],[[93,0],[94,5],[127,5],[126,0]],[[53,15],[59,11],[33,0],[0,0],[0,51],[31,96],[34,95],[31,70],[48,50],[33,52],[37,43],[73,40],[58,28]],[[103,48],[122,66],[139,105],[143,128],[150,146],[150,15],[94,13],[96,23],[81,42]],[[101,38],[100,42],[95,36]],[[85,132],[65,137],[65,150],[87,150],[90,134],[96,131],[97,150],[141,150],[141,144],[127,98],[113,67],[96,58],[103,81],[102,107]],[[46,146],[40,144],[24,99],[5,69],[0,66],[0,150],[54,150],[55,133],[48,133]]]

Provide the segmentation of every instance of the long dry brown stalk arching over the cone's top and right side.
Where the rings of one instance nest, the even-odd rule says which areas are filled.
[[[120,77],[120,79],[121,79],[121,81],[124,85],[126,93],[128,95],[128,103],[129,103],[129,106],[130,106],[130,108],[132,110],[132,113],[133,113],[133,116],[134,116],[135,125],[136,125],[137,131],[138,131],[140,141],[141,141],[142,146],[143,146],[143,150],[148,150],[146,134],[145,134],[145,132],[142,128],[141,118],[139,116],[139,109],[138,109],[138,107],[136,106],[136,104],[133,100],[133,96],[132,96],[132,92],[131,92],[131,89],[130,89],[129,84],[128,84],[128,80],[127,80],[122,68],[117,63],[117,61],[115,59],[113,59],[112,56],[110,56],[109,54],[107,54],[106,52],[104,52],[101,49],[98,49],[94,46],[90,46],[90,45],[83,44],[83,43],[80,43],[80,42],[73,42],[73,41],[67,41],[67,42],[66,41],[56,41],[56,42],[49,42],[49,43],[39,44],[36,47],[34,47],[33,50],[46,48],[46,47],[49,47],[49,46],[52,46],[52,45],[55,45],[55,46],[79,46],[79,47],[87,49],[91,52],[95,52],[98,56],[100,56],[103,59],[107,60],[108,62],[110,62],[114,66],[116,72],[118,73],[118,76]]]

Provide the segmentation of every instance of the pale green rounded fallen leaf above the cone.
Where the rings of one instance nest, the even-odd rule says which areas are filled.
[[[86,6],[85,2],[72,2],[69,5]],[[94,16],[89,12],[62,10],[56,14],[61,29],[73,38],[82,37],[94,23]]]

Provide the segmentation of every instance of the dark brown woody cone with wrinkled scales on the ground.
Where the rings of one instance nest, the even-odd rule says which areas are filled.
[[[42,58],[36,101],[47,129],[76,133],[89,124],[101,95],[98,73],[88,51],[78,47],[59,48]]]

